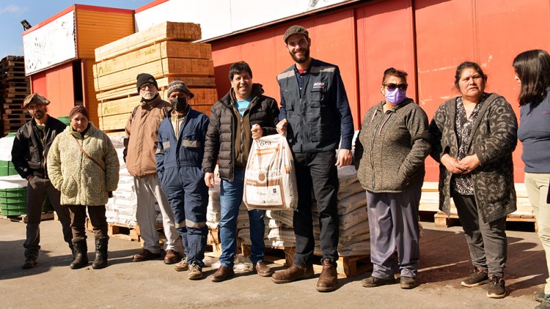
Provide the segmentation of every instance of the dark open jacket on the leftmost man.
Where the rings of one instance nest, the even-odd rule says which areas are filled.
[[[34,119],[30,119],[17,130],[12,147],[12,162],[21,177],[26,179],[27,176],[33,175],[47,178],[47,152],[56,136],[66,127],[63,122],[48,115],[44,139],[40,138],[39,129],[34,126]]]

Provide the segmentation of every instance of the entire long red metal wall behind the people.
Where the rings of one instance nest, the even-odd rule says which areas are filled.
[[[248,34],[212,42],[218,93],[229,89],[228,69],[245,60],[254,81],[279,100],[276,75],[292,60],[282,41],[289,25],[308,28],[311,56],[340,66],[358,129],[366,110],[382,100],[382,73],[408,72],[408,96],[431,119],[445,100],[459,95],[454,71],[465,60],[478,62],[488,76],[487,91],[505,96],[518,108],[518,84],[511,62],[527,49],[550,50],[548,0],[392,0],[368,1],[317,16],[304,16]],[[521,145],[514,152],[515,180],[523,181]],[[426,181],[439,169],[426,161]]]

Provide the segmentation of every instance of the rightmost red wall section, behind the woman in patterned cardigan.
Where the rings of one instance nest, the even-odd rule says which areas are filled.
[[[478,62],[487,92],[507,98],[519,118],[518,84],[511,62],[527,49],[550,49],[550,3],[545,0],[416,0],[419,100],[430,119],[454,89],[456,66]],[[536,30],[536,31],[533,31]],[[523,182],[521,143],[514,152],[515,181]],[[437,181],[437,164],[426,161],[426,181]]]

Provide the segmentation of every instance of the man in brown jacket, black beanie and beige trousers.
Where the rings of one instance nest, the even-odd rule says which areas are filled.
[[[157,80],[151,74],[137,75],[137,92],[141,97],[140,105],[134,108],[124,128],[124,161],[128,172],[134,177],[137,195],[135,218],[143,239],[143,249],[133,255],[132,262],[160,257],[156,201],[166,235],[164,263],[174,264],[181,260],[183,248],[175,229],[170,203],[160,187],[155,161],[159,124],[166,118],[170,104],[160,98]]]

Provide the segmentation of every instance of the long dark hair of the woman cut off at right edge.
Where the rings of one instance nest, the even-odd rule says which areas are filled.
[[[542,49],[528,50],[516,56],[512,65],[521,81],[520,105],[544,100],[550,86],[550,55]]]

